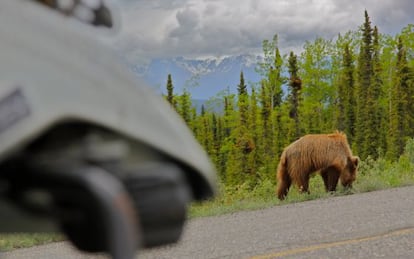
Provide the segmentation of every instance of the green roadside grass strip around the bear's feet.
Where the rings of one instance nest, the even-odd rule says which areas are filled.
[[[362,161],[352,190],[345,190],[338,184],[337,192],[326,193],[319,175],[315,175],[310,180],[310,194],[299,193],[295,187],[292,187],[284,201],[276,198],[276,184],[270,180],[262,181],[253,189],[249,188],[248,184],[237,188],[221,186],[221,193],[214,200],[192,204],[189,216],[190,218],[215,216],[240,210],[268,208],[281,204],[408,185],[414,185],[414,152],[406,151],[397,162],[390,162],[383,158],[377,160],[368,158]]]

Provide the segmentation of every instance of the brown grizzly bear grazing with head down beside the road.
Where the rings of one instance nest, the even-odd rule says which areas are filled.
[[[305,135],[287,146],[277,169],[277,196],[283,200],[290,185],[296,184],[300,192],[309,193],[309,178],[319,171],[327,192],[334,192],[341,179],[344,187],[352,187],[359,158],[352,155],[346,135]]]

